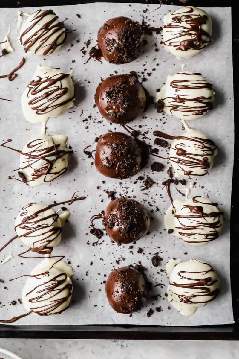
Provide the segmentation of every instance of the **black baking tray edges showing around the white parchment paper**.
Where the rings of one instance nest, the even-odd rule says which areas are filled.
[[[56,6],[92,3],[94,1],[79,0],[0,0],[0,8],[23,8],[27,6]],[[42,326],[37,329],[34,326],[4,326],[0,325],[0,337],[26,337],[26,338],[95,338],[95,339],[191,339],[191,340],[239,340],[239,194],[237,186],[239,143],[239,110],[237,107],[238,79],[239,79],[239,1],[238,0],[188,0],[185,4],[180,0],[155,0],[155,1],[97,1],[100,3],[141,3],[141,4],[172,4],[193,5],[201,7],[227,7],[232,8],[232,33],[233,33],[233,76],[234,76],[234,116],[235,116],[235,147],[234,147],[234,171],[233,188],[231,195],[231,290],[233,297],[233,314],[235,325],[203,326],[203,327],[161,327],[161,326]],[[0,10],[1,11],[1,10]],[[0,13],[1,14],[1,13]],[[92,17],[94,21],[94,17]],[[221,24],[223,31],[223,24]],[[227,71],[221,69],[222,73]],[[231,84],[233,86],[233,84]],[[220,144],[219,144],[220,145]],[[233,149],[231,149],[233,151]],[[228,201],[230,194],[228,193]],[[223,253],[221,253],[223,255]]]

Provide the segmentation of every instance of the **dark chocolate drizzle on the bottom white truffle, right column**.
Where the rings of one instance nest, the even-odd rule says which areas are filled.
[[[206,275],[209,272],[214,272],[214,269],[212,268],[212,266],[210,266],[207,263],[204,263],[206,265],[209,266],[209,269],[206,271],[199,271],[199,272],[188,272],[188,271],[180,271],[178,272],[178,276],[179,278],[183,279],[183,282],[185,280],[190,280],[192,281],[191,283],[175,283],[175,282],[170,282],[169,284],[171,286],[175,286],[175,287],[180,287],[180,288],[186,288],[187,292],[184,292],[184,294],[177,294],[177,293],[173,293],[175,295],[177,295],[178,299],[180,300],[180,302],[183,303],[187,303],[187,304],[201,304],[201,303],[208,303],[211,302],[211,300],[215,299],[216,296],[220,293],[220,289],[216,288],[215,290],[211,291],[210,287],[212,285],[214,285],[216,282],[218,282],[218,279],[212,280],[211,277],[206,277],[206,278],[191,278],[190,274],[200,274],[201,276]],[[189,290],[192,290],[192,292],[190,292]],[[186,294],[185,294],[186,293]],[[211,299],[207,299],[207,297],[212,297]],[[199,301],[195,301],[194,298],[199,298],[199,299],[204,299],[204,301],[199,300]],[[193,301],[192,301],[193,299]]]

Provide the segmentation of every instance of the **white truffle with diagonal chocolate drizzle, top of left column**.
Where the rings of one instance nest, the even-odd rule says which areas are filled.
[[[23,22],[20,30],[20,43],[25,52],[51,55],[59,50],[66,39],[64,23],[52,10],[37,10]]]

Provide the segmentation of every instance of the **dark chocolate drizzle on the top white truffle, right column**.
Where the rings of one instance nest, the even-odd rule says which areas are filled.
[[[202,50],[210,42],[210,34],[202,29],[207,23],[207,16],[193,13],[191,6],[181,8],[182,12],[172,13],[172,22],[164,25],[164,29],[172,37],[164,41],[164,45],[176,47],[176,50]],[[167,30],[166,30],[167,29]]]

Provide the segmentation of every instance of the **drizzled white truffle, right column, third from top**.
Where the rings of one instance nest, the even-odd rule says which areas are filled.
[[[217,153],[216,145],[207,135],[188,129],[172,142],[169,159],[179,176],[195,178],[208,173]]]

